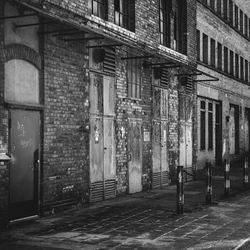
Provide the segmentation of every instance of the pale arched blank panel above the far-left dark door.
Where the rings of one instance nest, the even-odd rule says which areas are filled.
[[[7,102],[39,104],[39,71],[19,59],[5,63],[4,97]]]

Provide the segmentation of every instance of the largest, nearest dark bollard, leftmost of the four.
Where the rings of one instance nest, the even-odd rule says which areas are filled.
[[[184,186],[183,186],[183,166],[177,167],[177,214],[183,214],[184,209]]]

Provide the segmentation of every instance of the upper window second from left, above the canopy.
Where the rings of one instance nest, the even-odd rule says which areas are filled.
[[[135,0],[115,0],[115,24],[135,31]]]

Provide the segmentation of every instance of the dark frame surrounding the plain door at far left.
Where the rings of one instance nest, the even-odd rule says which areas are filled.
[[[36,206],[37,206],[37,211],[35,215],[31,215],[28,217],[23,217],[23,218],[18,218],[18,219],[12,219],[11,214],[10,214],[10,208],[11,208],[11,202],[10,202],[10,192],[9,192],[9,197],[8,197],[8,219],[9,222],[15,222],[15,221],[22,221],[27,218],[33,218],[33,217],[38,217],[42,214],[42,166],[43,166],[43,120],[44,120],[44,106],[43,105],[36,105],[36,106],[29,106],[29,105],[22,105],[22,104],[13,104],[13,103],[5,103],[6,108],[8,111],[8,152],[11,154],[11,112],[13,110],[20,110],[20,111],[31,111],[31,112],[38,112],[39,114],[39,154],[38,154],[38,167],[37,167],[37,176],[34,178],[37,178],[37,183],[36,183]],[[9,163],[11,164],[11,163]],[[9,171],[9,187],[10,187],[10,171]],[[35,189],[35,187],[34,187]],[[35,190],[34,190],[35,191]]]

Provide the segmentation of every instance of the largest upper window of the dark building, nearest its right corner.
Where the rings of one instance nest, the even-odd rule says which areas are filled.
[[[186,0],[160,0],[160,42],[162,45],[186,53]]]

